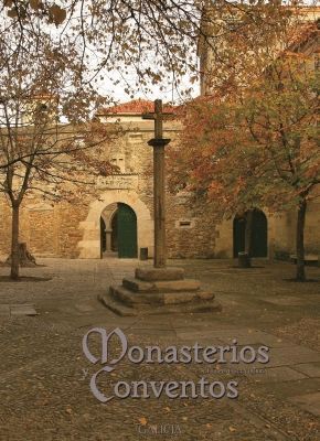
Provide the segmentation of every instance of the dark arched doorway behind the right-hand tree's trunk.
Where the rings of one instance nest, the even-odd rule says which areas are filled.
[[[268,256],[268,222],[267,217],[260,209],[253,211],[252,219],[252,237],[250,237],[250,256],[267,257]],[[245,230],[246,214],[235,216],[233,220],[233,255],[245,250]]]

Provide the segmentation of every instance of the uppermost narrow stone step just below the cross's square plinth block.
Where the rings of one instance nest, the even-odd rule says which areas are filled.
[[[200,281],[183,279],[147,282],[140,279],[126,278],[122,280],[122,286],[129,291],[135,292],[180,292],[198,291],[200,289]]]

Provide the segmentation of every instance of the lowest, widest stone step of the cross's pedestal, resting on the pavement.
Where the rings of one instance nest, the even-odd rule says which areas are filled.
[[[98,297],[99,301],[120,316],[137,316],[137,315],[157,315],[157,314],[174,314],[174,313],[204,313],[220,312],[222,306],[215,300],[201,300],[198,302],[189,302],[182,304],[164,304],[164,305],[141,305],[135,304],[135,308],[128,306],[115,300],[110,293]]]

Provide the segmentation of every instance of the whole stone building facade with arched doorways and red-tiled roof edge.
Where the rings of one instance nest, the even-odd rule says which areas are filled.
[[[99,259],[109,255],[138,257],[141,248],[148,248],[149,257],[153,255],[152,149],[147,143],[153,137],[153,122],[141,118],[152,106],[136,100],[118,106],[108,117],[99,115],[102,120],[119,121],[124,136],[104,150],[104,159],[118,165],[119,173],[97,179],[94,196],[86,195],[78,204],[52,205],[36,197],[25,201],[20,241],[25,241],[32,254]],[[166,122],[164,136],[171,139],[168,149],[179,142],[180,130],[179,122]],[[11,213],[3,196],[0,212],[0,255],[4,257],[10,250]],[[125,224],[119,222],[120,215]],[[295,213],[259,213],[254,229],[256,256],[286,257],[295,252]],[[192,201],[190,194],[167,194],[169,257],[232,258],[241,250],[243,234],[236,215],[218,224],[212,208]],[[319,200],[308,207],[306,251],[320,254]]]

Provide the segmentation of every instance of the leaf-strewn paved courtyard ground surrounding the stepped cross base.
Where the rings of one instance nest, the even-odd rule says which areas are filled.
[[[223,304],[221,313],[118,318],[97,295],[132,276],[137,260],[41,259],[20,282],[0,277],[0,440],[237,440],[320,439],[320,268],[313,282],[289,281],[294,267],[258,261],[179,260]],[[149,263],[151,265],[151,263]],[[0,276],[8,273],[0,268]],[[34,315],[34,311],[36,315]],[[238,381],[231,398],[115,398],[99,402],[89,389],[102,368],[85,357],[84,334],[119,326],[130,345],[270,347],[266,365],[134,364],[127,358],[98,377],[106,395],[117,381]],[[111,340],[113,354],[119,342]],[[98,340],[92,352],[102,356]],[[114,355],[116,356],[116,355]],[[156,433],[157,432],[157,433]],[[161,433],[162,432],[162,433]],[[166,432],[166,433],[163,433]]]

